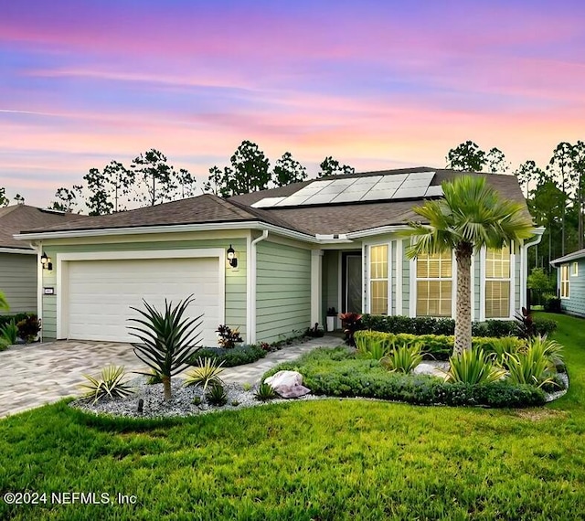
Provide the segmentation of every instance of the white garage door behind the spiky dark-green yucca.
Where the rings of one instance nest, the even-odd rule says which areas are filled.
[[[131,342],[128,319],[144,309],[143,298],[164,309],[165,298],[174,303],[195,295],[189,316],[203,317],[203,344],[217,345],[215,330],[223,322],[223,294],[218,280],[218,259],[143,259],[69,261],[67,264],[68,338]]]

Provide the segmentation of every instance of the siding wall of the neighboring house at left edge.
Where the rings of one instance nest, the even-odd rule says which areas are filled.
[[[37,313],[37,255],[0,253],[0,291],[10,304],[2,313]]]

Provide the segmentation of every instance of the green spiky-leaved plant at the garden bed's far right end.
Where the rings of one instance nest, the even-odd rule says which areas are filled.
[[[511,353],[505,358],[508,379],[516,384],[528,384],[538,388],[555,383],[555,364],[562,360],[562,346],[554,340],[535,336],[525,350]]]

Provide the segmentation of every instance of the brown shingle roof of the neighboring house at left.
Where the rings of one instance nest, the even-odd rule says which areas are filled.
[[[13,239],[15,233],[23,229],[46,226],[62,226],[65,223],[81,221],[87,216],[68,214],[54,210],[45,210],[28,205],[13,205],[0,208],[0,248],[16,248],[19,250],[30,247],[22,240]]]

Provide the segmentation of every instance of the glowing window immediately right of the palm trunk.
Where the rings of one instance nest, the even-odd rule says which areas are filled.
[[[510,250],[485,252],[485,318],[510,316]]]

